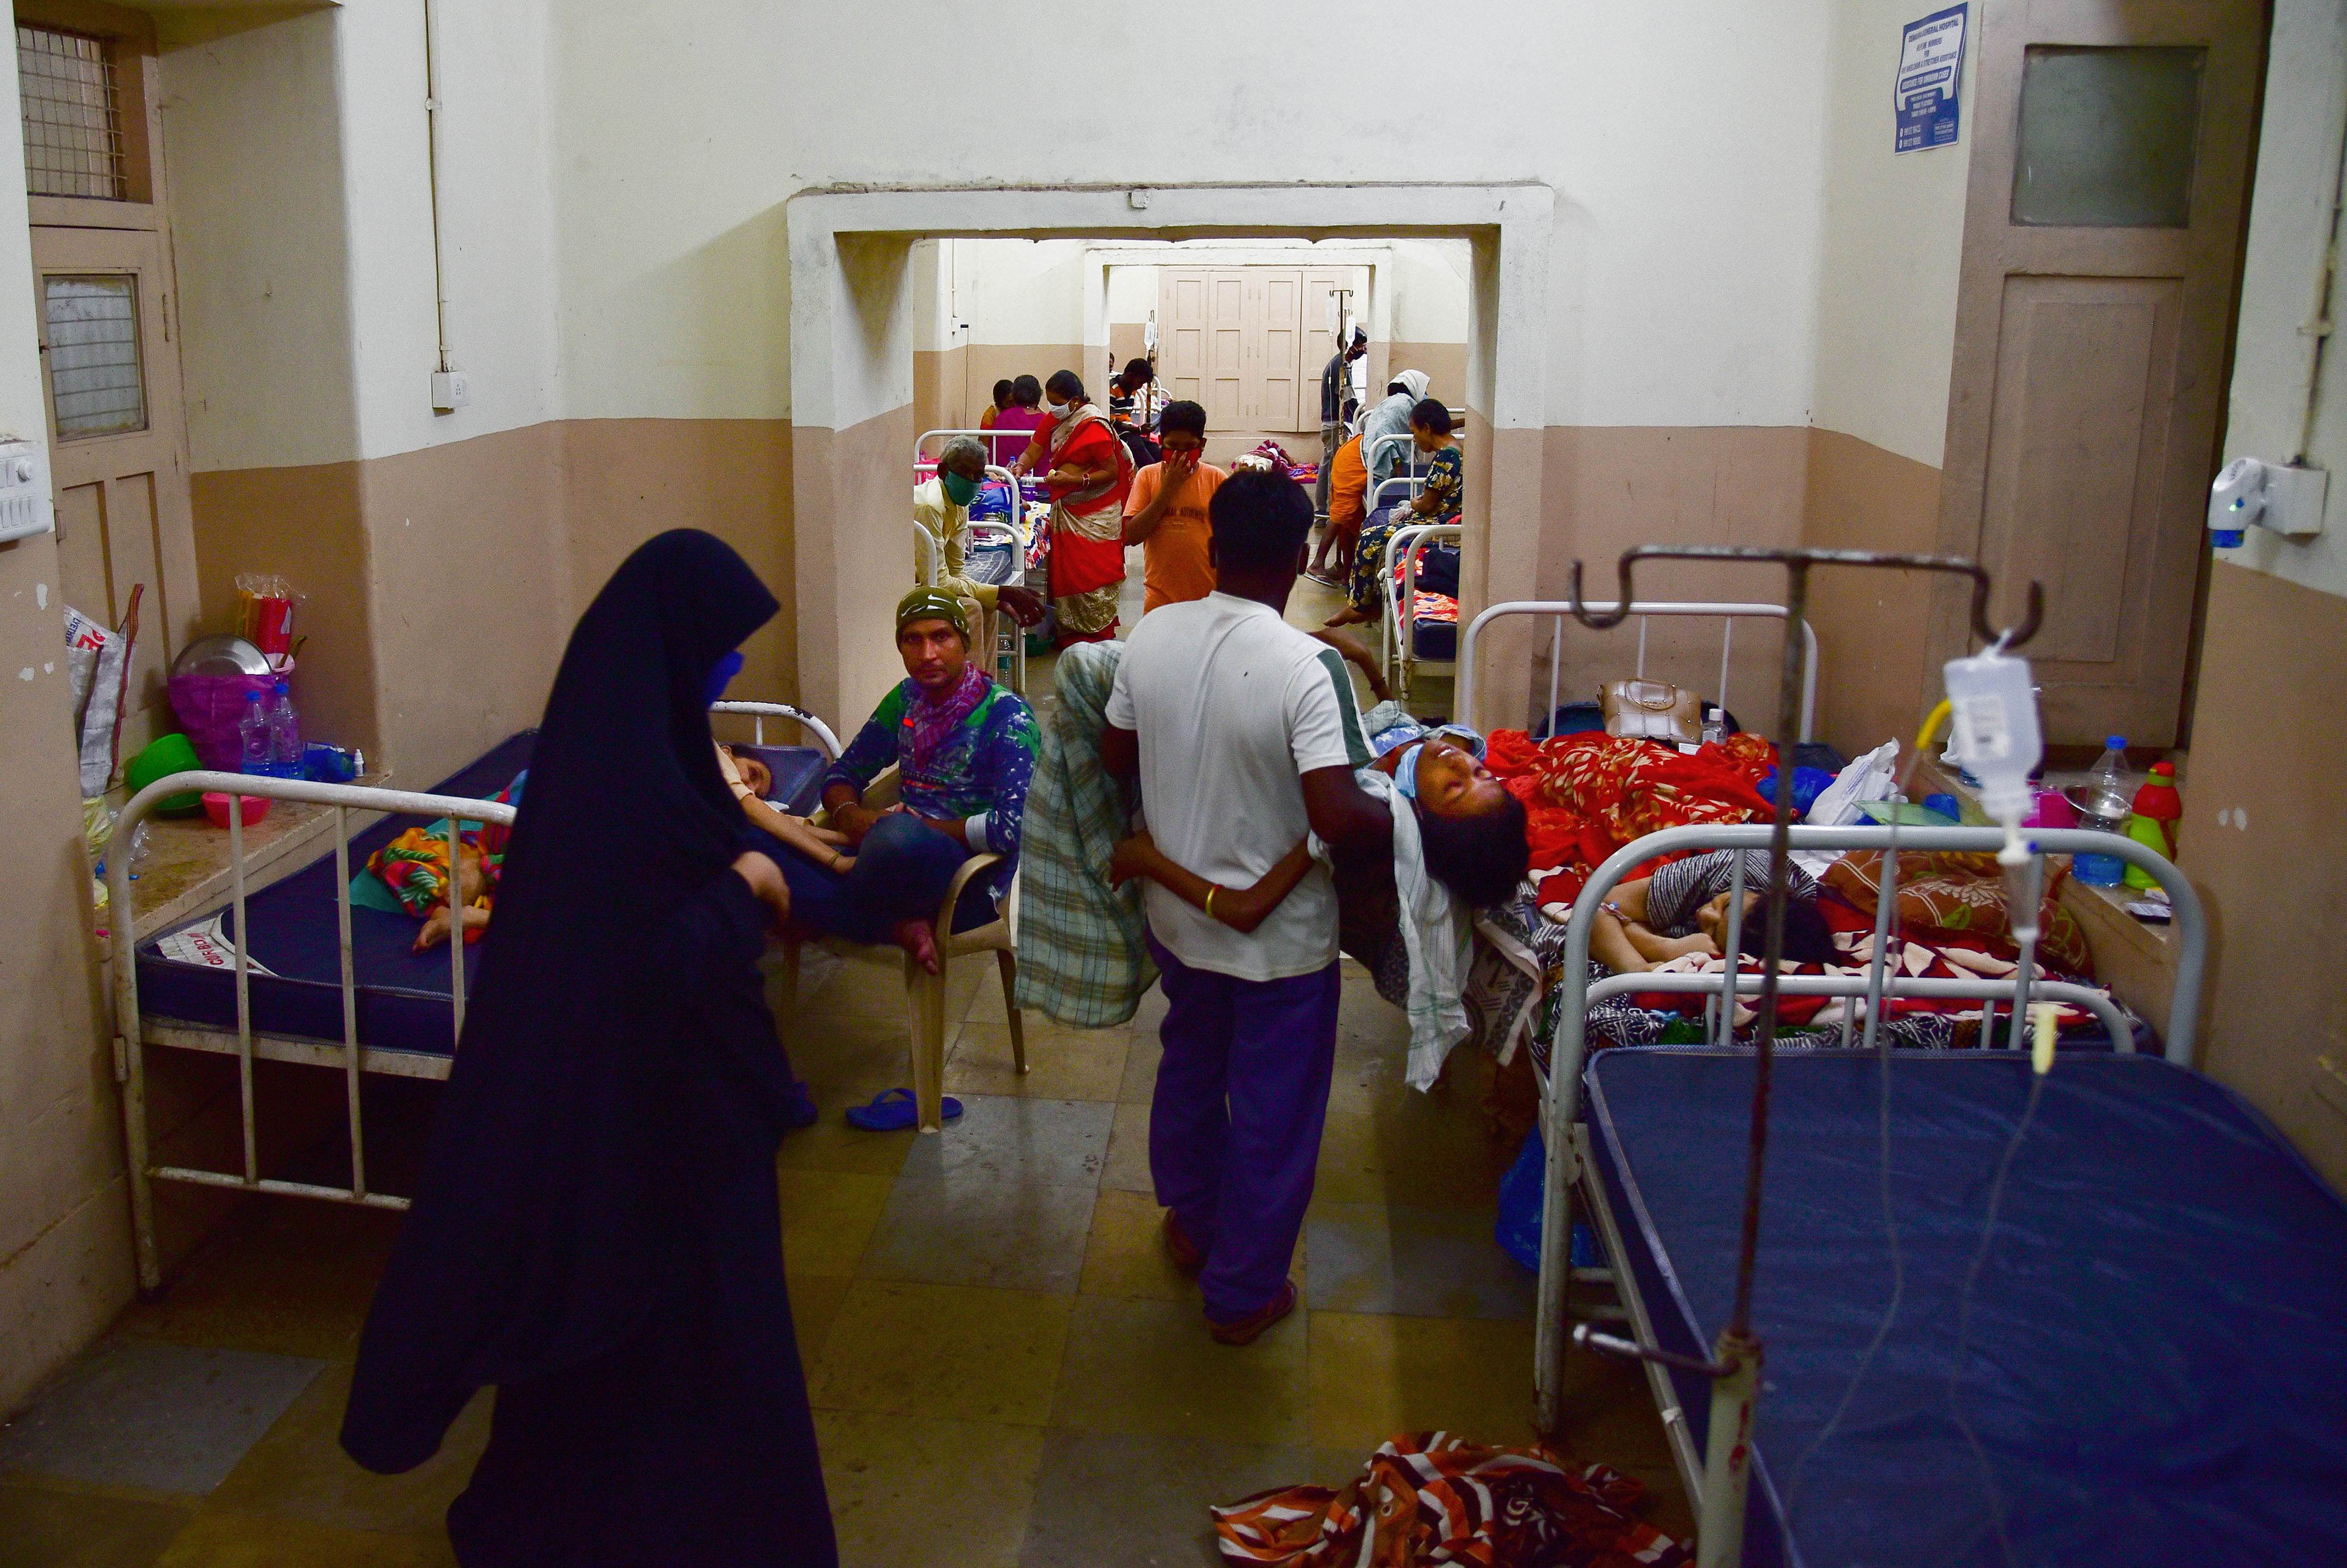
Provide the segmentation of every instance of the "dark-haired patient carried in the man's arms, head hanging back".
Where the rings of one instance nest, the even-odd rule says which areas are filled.
[[[1523,803],[1483,768],[1481,737],[1469,730],[1429,730],[1399,704],[1368,711],[1364,728],[1382,744],[1368,765],[1415,805],[1427,873],[1469,908],[1500,904],[1530,869]],[[1368,772],[1364,770],[1364,772]],[[1223,925],[1251,932],[1312,869],[1310,840],[1298,843],[1253,887],[1218,887],[1174,864],[1148,833],[1115,850],[1110,883],[1145,876]],[[1338,946],[1357,958],[1396,1007],[1408,998],[1408,948],[1401,939],[1401,897],[1392,859],[1335,861]]]

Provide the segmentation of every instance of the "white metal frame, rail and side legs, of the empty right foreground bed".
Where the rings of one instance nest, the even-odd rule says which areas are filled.
[[[1497,606],[1493,613],[1509,608]],[[1636,613],[1638,606],[1634,606]],[[1481,617],[1479,617],[1481,622]],[[1814,662],[1812,662],[1814,674]],[[1554,711],[1554,707],[1551,707]],[[1875,951],[1868,962],[1864,979],[1859,976],[1795,976],[1784,974],[1777,979],[1777,991],[1781,995],[1864,995],[1866,1007],[1866,1049],[1875,1045],[1875,1028],[1880,1019],[1880,1005],[1885,998],[1981,998],[1986,1007],[1983,1016],[1983,1047],[1981,1049],[2007,1049],[1986,1045],[1995,1040],[1995,1002],[2004,1000],[2011,1005],[2016,993],[2042,1000],[2072,1002],[2094,1009],[2103,1026],[2110,1030],[2112,1049],[2133,1052],[2133,1033],[2126,1023],[2124,1012],[2103,993],[2086,986],[2070,986],[2063,981],[2033,979],[2025,972],[2016,972],[2011,979],[1943,979],[1927,981],[1903,974],[1887,972],[1889,944],[1885,941],[1889,927],[1889,911],[1896,906],[1896,859],[1889,854],[1896,850],[1962,850],[1962,852],[1986,852],[1993,854],[2002,847],[2002,829],[1920,829],[1920,826],[1840,826],[1840,829],[1791,829],[1791,850],[1882,850],[1885,852],[1885,887],[1875,904]],[[2173,911],[2173,930],[2178,934],[2178,965],[2176,965],[2176,988],[2169,1005],[2169,1038],[2164,1056],[2178,1066],[2192,1063],[2192,1038],[2194,1021],[2199,1016],[2201,998],[2201,974],[2209,953],[2209,922],[2199,904],[2199,894],[2183,873],[2157,850],[2150,850],[2119,833],[2094,833],[2079,829],[2047,829],[2030,831],[2030,843],[2040,854],[2117,854],[2119,859],[2140,866],[2152,876],[2159,887],[2169,894],[2169,906]],[[1542,1230],[1540,1230],[1540,1305],[1537,1305],[1537,1340],[1535,1340],[1535,1390],[1537,1390],[1537,1418],[1544,1432],[1554,1432],[1561,1425],[1563,1413],[1563,1368],[1565,1368],[1565,1345],[1582,1343],[1589,1338],[1594,1319],[1629,1319],[1631,1333],[1636,1336],[1636,1347],[1645,1366],[1648,1387],[1655,1397],[1655,1408],[1662,1415],[1664,1434],[1671,1441],[1671,1458],[1678,1465],[1678,1476],[1687,1488],[1687,1498],[1697,1502],[1697,1545],[1706,1537],[1734,1540],[1741,1533],[1741,1519],[1727,1521],[1723,1509],[1727,1502],[1704,1486],[1706,1465],[1704,1453],[1695,1446],[1695,1434],[1687,1427],[1685,1408],[1680,1406],[1678,1392],[1671,1385],[1669,1368],[1664,1361],[1669,1352],[1659,1347],[1655,1336],[1655,1317],[1645,1298],[1638,1293],[1638,1279],[1631,1268],[1626,1268],[1626,1249],[1619,1228],[1612,1218],[1612,1207],[1603,1190],[1603,1174],[1591,1160],[1589,1127],[1582,1122],[1582,1066],[1589,1052],[1589,1002],[1603,1000],[1608,995],[1619,995],[1626,991],[1676,991],[1676,993],[1704,993],[1706,995],[1706,1019],[1716,1016],[1718,1040],[1716,1045],[1727,1045],[1734,1030],[1732,1007],[1727,1007],[1727,984],[1734,974],[1737,993],[1760,991],[1760,974],[1612,974],[1596,984],[1589,981],[1589,930],[1596,918],[1598,906],[1612,894],[1615,885],[1636,866],[1650,861],[1657,854],[1678,852],[1704,852],[1704,850],[1767,850],[1770,826],[1767,824],[1697,824],[1680,829],[1664,829],[1659,833],[1648,833],[1636,843],[1615,850],[1603,866],[1598,866],[1589,883],[1582,887],[1580,899],[1572,906],[1572,918],[1565,934],[1563,955],[1563,1002],[1558,1009],[1558,1038],[1551,1052],[1549,1075],[1542,1084],[1542,1138],[1547,1141],[1547,1174],[1542,1192]],[[1741,866],[1737,869],[1737,885],[1741,887]],[[1739,951],[1739,925],[1741,925],[1741,899],[1730,892],[1730,925],[1725,948],[1730,953]],[[1842,1042],[1849,1042],[1849,1012],[1842,1012]],[[1828,1047],[1831,1049],[1831,1047]],[[1603,1268],[1572,1268],[1572,1216],[1575,1199],[1587,1209],[1591,1228],[1605,1251]],[[1619,1310],[1596,1310],[1577,1329],[1568,1326],[1565,1293],[1572,1284],[1605,1284],[1612,1286]],[[1596,1336],[1603,1343],[1603,1336]],[[1734,1491],[1734,1507],[1741,1509],[1741,1488]],[[1702,1561],[1711,1561],[1706,1554]]]

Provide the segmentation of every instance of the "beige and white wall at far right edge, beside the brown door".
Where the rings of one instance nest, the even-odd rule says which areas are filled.
[[[2209,1073],[2347,1188],[2347,352],[2335,256],[2347,14],[2277,0],[2225,458],[2331,474],[2324,533],[2253,528],[2209,573],[2180,859],[2209,904]],[[2328,286],[2328,298],[2326,298]]]

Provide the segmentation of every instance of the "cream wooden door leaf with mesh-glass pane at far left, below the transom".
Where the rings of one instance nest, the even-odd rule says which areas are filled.
[[[66,603],[117,624],[146,587],[127,758],[169,716],[164,676],[199,620],[171,277],[153,230],[42,225],[33,272]]]

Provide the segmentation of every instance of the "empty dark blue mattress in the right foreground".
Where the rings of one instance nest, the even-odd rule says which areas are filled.
[[[1882,1068],[1777,1059],[1753,1324],[1765,1345],[1746,1563],[2347,1563],[2347,1207],[2241,1101],[2157,1056],[2063,1056],[1957,1303],[2028,1061],[1901,1052],[1896,1324]],[[1734,1293],[1749,1052],[1605,1052],[1594,1153],[1657,1340],[1709,1352]],[[1702,1453],[1709,1383],[1673,1373]],[[1990,1502],[1990,1486],[1997,1502]],[[1995,1516],[2002,1509],[2000,1547]]]

